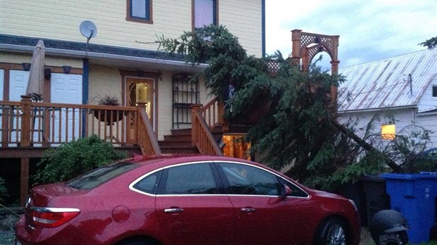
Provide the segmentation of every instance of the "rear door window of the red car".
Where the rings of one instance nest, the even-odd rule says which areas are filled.
[[[193,163],[167,168],[161,194],[218,194],[209,163]]]

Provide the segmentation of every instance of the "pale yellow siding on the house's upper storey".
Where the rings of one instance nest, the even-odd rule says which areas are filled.
[[[83,20],[97,26],[93,44],[156,50],[156,37],[178,37],[192,29],[192,1],[154,0],[153,24],[126,20],[126,1],[0,1],[3,34],[86,42]],[[261,55],[261,1],[219,1],[219,24],[226,25],[249,54]]]

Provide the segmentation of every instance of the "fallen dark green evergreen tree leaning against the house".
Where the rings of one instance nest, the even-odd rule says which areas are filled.
[[[287,174],[309,187],[332,191],[362,175],[387,171],[393,162],[402,165],[402,170],[417,167],[410,156],[419,154],[415,148],[419,144],[412,144],[412,137],[397,137],[390,144],[381,141],[376,125],[381,120],[394,122],[393,116],[376,115],[362,138],[355,134],[357,120],[338,125],[331,89],[345,80],[341,75],[323,73],[316,63],[302,72],[279,52],[268,58],[247,56],[223,26],[184,32],[178,39],[161,37],[158,42],[164,51],[183,54],[193,65],[208,63],[199,75],[204,75],[211,94],[226,101],[228,121],[244,122],[254,114],[262,115],[246,136],[251,153],[264,153],[261,162],[277,170],[291,165]],[[267,66],[272,60],[279,67],[274,76]],[[232,98],[226,94],[230,85],[235,88]],[[429,132],[421,140],[426,135]]]

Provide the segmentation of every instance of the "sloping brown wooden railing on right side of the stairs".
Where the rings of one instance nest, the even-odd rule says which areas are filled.
[[[214,140],[207,122],[202,115],[201,105],[192,106],[192,142],[205,155],[223,156],[223,152]]]

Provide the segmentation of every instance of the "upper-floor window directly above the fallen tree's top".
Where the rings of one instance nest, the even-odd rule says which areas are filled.
[[[192,0],[193,25],[195,28],[218,23],[218,0]]]

